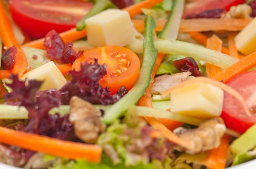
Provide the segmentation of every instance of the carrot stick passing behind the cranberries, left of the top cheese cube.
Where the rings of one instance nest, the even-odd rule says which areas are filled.
[[[82,31],[77,31],[76,28],[72,28],[68,31],[62,32],[59,34],[64,43],[73,42],[77,39],[86,37],[87,31],[83,29]],[[25,43],[23,46],[44,49],[44,38],[37,39],[28,43]]]

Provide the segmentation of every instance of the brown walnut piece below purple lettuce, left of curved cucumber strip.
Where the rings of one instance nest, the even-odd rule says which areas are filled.
[[[93,104],[76,96],[70,100],[69,120],[74,124],[76,136],[85,143],[95,143],[105,130],[100,112]]]

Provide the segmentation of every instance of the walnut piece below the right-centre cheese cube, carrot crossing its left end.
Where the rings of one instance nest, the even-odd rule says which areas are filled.
[[[222,118],[211,118],[204,121],[196,129],[177,128],[174,132],[181,139],[188,141],[193,146],[189,151],[180,146],[175,146],[178,151],[186,151],[189,154],[196,154],[217,148],[221,143],[221,137],[226,131]]]

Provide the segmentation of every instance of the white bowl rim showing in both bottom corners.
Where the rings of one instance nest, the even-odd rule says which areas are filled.
[[[248,161],[246,163],[240,164],[238,166],[233,166],[227,169],[255,169],[256,166],[256,159],[252,161]],[[0,163],[0,169],[21,169],[14,166],[9,166],[4,163]]]

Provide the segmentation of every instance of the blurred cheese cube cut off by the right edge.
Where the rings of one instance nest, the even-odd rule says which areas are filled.
[[[236,48],[244,55],[256,51],[256,18],[235,37]]]

